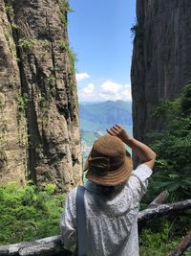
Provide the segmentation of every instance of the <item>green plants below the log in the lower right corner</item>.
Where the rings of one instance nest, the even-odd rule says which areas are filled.
[[[169,256],[189,230],[190,213],[148,221],[139,235],[140,256]],[[187,249],[182,255],[190,256]]]

